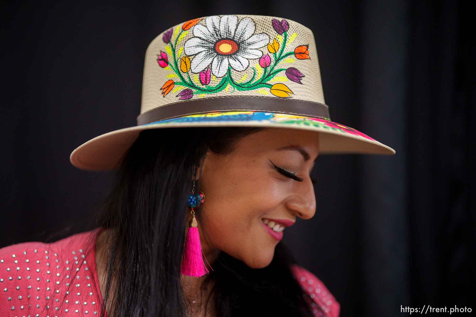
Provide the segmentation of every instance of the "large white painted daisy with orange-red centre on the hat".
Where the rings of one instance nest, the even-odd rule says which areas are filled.
[[[261,58],[263,52],[258,48],[269,42],[268,34],[254,34],[256,25],[250,18],[238,23],[235,15],[210,16],[205,18],[205,25],[196,24],[194,37],[184,45],[186,55],[195,55],[191,62],[193,73],[199,73],[210,63],[216,77],[223,77],[228,66],[244,71],[249,66],[248,59]]]

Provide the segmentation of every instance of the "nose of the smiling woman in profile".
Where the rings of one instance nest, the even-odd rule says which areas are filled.
[[[316,194],[310,179],[296,186],[296,192],[288,197],[286,207],[299,218],[311,219],[316,213]]]

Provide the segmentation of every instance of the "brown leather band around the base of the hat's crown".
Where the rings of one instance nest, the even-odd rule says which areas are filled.
[[[217,96],[159,106],[139,115],[137,125],[145,125],[184,115],[231,110],[254,110],[330,119],[329,107],[317,102],[265,96]]]

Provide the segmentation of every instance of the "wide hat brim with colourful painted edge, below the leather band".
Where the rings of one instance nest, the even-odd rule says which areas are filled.
[[[320,132],[319,154],[395,154],[391,147],[367,134],[325,118],[260,111],[215,111],[187,115],[101,134],[77,147],[70,162],[83,170],[110,170],[118,167],[140,131],[171,127],[257,126],[304,129]]]

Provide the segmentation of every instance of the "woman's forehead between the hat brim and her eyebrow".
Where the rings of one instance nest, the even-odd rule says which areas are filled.
[[[242,138],[236,144],[236,151],[243,154],[260,154],[288,145],[301,146],[311,156],[315,156],[319,152],[319,133],[291,128],[269,128]]]

